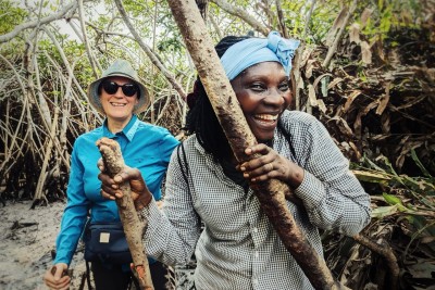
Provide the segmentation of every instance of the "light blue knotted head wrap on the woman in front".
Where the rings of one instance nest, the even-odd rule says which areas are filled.
[[[233,45],[222,55],[221,63],[229,80],[260,62],[279,62],[289,76],[291,59],[299,43],[299,40],[285,39],[278,31],[271,31],[268,38],[248,38]]]

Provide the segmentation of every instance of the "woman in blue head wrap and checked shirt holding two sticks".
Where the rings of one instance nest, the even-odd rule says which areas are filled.
[[[311,115],[287,111],[298,45],[271,33],[268,38],[226,37],[216,46],[259,141],[246,153],[259,157],[237,164],[198,79],[187,100],[191,136],[172,154],[163,212],[138,171],[128,168],[116,177],[117,184],[130,181],[137,210],[149,220],[148,254],[175,265],[188,263],[195,253],[197,289],[312,289],[248,180],[278,178],[294,189],[301,203],[288,201],[289,211],[321,256],[318,228],[355,235],[370,220],[369,196],[324,126]],[[120,196],[113,179],[104,174],[100,179],[103,197]]]

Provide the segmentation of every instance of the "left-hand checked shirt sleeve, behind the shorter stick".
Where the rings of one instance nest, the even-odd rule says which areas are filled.
[[[167,168],[163,211],[151,201],[145,235],[147,253],[172,266],[190,261],[200,235],[200,220],[179,165],[174,150]]]

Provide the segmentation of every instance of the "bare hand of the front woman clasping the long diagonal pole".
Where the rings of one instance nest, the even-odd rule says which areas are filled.
[[[290,160],[279,155],[264,143],[259,143],[245,150],[247,155],[259,154],[238,166],[244,177],[251,182],[265,181],[272,178],[279,179],[293,188],[297,188],[303,180],[303,169]]]

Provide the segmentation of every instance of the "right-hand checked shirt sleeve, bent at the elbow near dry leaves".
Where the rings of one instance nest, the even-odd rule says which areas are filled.
[[[304,140],[304,178],[295,193],[312,224],[356,235],[370,222],[370,197],[349,171],[349,161],[315,118]]]

